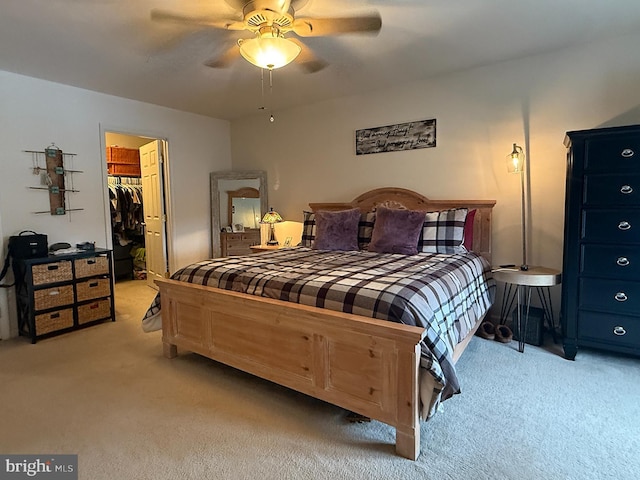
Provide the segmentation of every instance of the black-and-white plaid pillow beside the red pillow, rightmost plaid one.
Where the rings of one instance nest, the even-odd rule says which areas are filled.
[[[464,223],[468,209],[452,208],[427,212],[418,239],[418,251],[423,253],[462,253]]]

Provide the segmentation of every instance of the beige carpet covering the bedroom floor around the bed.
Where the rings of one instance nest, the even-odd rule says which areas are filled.
[[[332,405],[197,355],[162,356],[140,319],[155,292],[116,285],[118,321],[31,345],[0,342],[0,453],[78,454],[79,478],[585,479],[640,471],[640,364],[575,362],[474,338],[463,394],[422,427],[349,424]],[[581,380],[582,379],[582,380]],[[595,385],[595,387],[594,387]],[[603,409],[615,402],[615,409]]]

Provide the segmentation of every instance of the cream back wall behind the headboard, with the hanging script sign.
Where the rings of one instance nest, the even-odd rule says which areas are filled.
[[[302,219],[309,202],[397,186],[434,199],[495,199],[495,264],[521,261],[520,182],[530,160],[529,263],[561,268],[568,130],[640,123],[640,36],[565,49],[412,85],[233,121],[235,169],[264,169],[269,205]],[[329,67],[331,68],[331,67]],[[277,106],[276,106],[277,108]],[[355,130],[437,119],[437,147],[356,156]],[[555,292],[555,302],[559,289]]]

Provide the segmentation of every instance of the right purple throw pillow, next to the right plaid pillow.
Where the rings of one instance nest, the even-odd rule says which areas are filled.
[[[369,251],[415,255],[418,253],[424,215],[418,210],[378,207]]]

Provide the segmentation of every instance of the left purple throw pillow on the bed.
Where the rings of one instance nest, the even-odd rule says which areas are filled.
[[[358,250],[360,210],[317,211],[314,250]]]

